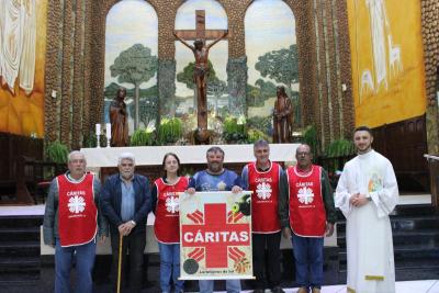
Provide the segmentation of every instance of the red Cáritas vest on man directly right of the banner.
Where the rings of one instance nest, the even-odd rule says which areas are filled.
[[[277,233],[281,229],[278,215],[280,166],[271,162],[268,171],[261,172],[255,162],[248,167],[248,189],[251,194],[251,224],[254,233]]]

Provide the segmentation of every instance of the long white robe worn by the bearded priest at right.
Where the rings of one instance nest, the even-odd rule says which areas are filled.
[[[356,194],[372,201],[356,207]],[[398,201],[392,164],[371,150],[348,161],[338,181],[335,204],[346,217],[348,292],[394,293],[395,264],[389,214]]]

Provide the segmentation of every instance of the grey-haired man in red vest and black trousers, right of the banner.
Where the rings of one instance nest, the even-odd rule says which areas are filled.
[[[254,293],[263,293],[267,285],[273,293],[283,293],[280,286],[281,224],[278,207],[280,192],[286,191],[286,179],[282,167],[270,160],[270,147],[267,140],[257,140],[254,144],[254,153],[256,161],[246,165],[241,172],[243,189],[254,192],[251,194],[251,243],[256,277]]]

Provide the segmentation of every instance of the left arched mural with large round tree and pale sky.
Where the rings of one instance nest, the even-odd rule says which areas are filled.
[[[120,87],[127,89],[125,102],[130,133],[153,127],[158,109],[158,20],[154,8],[142,0],[124,0],[111,8],[105,29],[105,109]]]

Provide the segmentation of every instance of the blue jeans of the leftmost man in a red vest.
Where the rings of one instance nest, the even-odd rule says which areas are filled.
[[[55,243],[55,293],[70,292],[70,270],[74,257],[76,257],[77,274],[75,292],[93,292],[91,271],[94,266],[95,241],[70,247],[61,247],[59,239]]]

